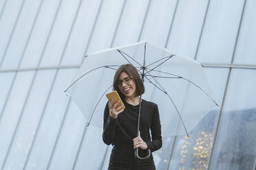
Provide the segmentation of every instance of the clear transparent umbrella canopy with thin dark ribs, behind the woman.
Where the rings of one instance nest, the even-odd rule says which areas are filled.
[[[105,94],[112,90],[114,74],[122,64],[136,67],[145,84],[142,98],[158,104],[162,136],[188,134],[217,105],[199,62],[138,42],[85,56],[65,92],[88,125],[103,127]]]

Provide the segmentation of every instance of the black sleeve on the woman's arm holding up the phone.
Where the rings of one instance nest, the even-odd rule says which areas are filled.
[[[116,128],[116,119],[112,119],[109,116],[109,105],[105,106],[104,110],[104,123],[103,123],[103,141],[107,145],[110,145],[114,142],[115,136],[115,128]]]

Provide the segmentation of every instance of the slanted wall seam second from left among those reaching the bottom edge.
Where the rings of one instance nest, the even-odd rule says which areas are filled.
[[[68,42],[69,42],[69,40],[70,40],[70,36],[71,36],[71,34],[72,34],[72,29],[73,29],[74,23],[75,23],[75,21],[76,21],[76,16],[77,16],[78,11],[79,11],[79,9],[80,9],[80,7],[81,7],[81,2],[82,2],[82,0],[80,0],[79,3],[78,3],[78,9],[76,10],[76,14],[75,14],[75,16],[74,16],[74,20],[73,20],[73,22],[72,22],[72,26],[70,27],[70,32],[69,32],[69,34],[68,34],[68,36],[67,36],[67,40],[66,40],[66,42],[65,42],[65,46],[64,46],[64,48],[63,48],[63,52],[61,53],[61,60],[58,62],[58,66],[61,65],[61,62],[62,62],[62,60],[63,60],[63,56],[64,56],[64,54],[65,54],[65,51],[66,51],[66,48],[67,48],[67,44],[68,44]],[[28,156],[27,156],[27,158],[26,158],[26,160],[25,160],[25,164],[24,164],[23,169],[25,169],[25,168],[27,167],[27,164],[28,164],[28,160],[29,160],[29,158],[30,158],[31,151],[32,151],[32,149],[33,149],[33,147],[34,147],[34,141],[36,141],[36,137],[38,136],[38,132],[39,132],[39,129],[40,129],[40,127],[41,127],[41,123],[42,123],[43,117],[44,117],[44,115],[45,115],[45,109],[46,109],[46,106],[47,106],[48,101],[49,101],[49,99],[50,99],[50,96],[51,96],[51,93],[52,93],[52,89],[53,89],[53,87],[54,87],[54,82],[56,81],[56,77],[57,77],[57,75],[58,75],[58,71],[59,71],[59,69],[56,69],[56,72],[55,72],[55,74],[54,74],[54,78],[53,78],[53,81],[52,81],[52,84],[51,84],[51,88],[50,88],[49,93],[48,93],[48,95],[47,95],[47,99],[46,99],[46,101],[45,101],[45,104],[44,104],[44,106],[43,106],[43,111],[42,111],[42,113],[41,113],[41,117],[39,118],[39,123],[38,123],[38,125],[37,125],[37,127],[36,127],[36,131],[35,131],[35,134],[34,134],[34,138],[33,138],[33,140],[32,140],[31,147],[30,147],[30,149],[29,149],[29,151],[28,151]]]

